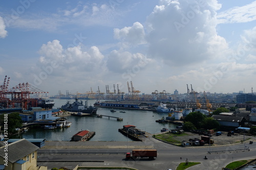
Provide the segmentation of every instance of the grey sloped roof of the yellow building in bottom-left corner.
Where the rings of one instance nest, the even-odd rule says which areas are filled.
[[[8,161],[14,163],[25,156],[37,151],[39,148],[26,139],[20,139],[8,144]],[[5,146],[0,148],[0,156],[5,156]]]

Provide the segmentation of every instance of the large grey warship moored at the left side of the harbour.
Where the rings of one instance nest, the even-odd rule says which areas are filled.
[[[77,98],[75,98],[74,103],[70,103],[69,101],[61,106],[62,110],[71,111],[71,112],[82,112],[82,113],[89,113],[89,114],[96,114],[98,108],[86,105],[83,105],[82,101],[78,101]]]

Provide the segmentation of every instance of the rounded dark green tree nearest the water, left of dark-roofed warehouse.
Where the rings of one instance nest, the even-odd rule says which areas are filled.
[[[185,117],[186,122],[191,122],[196,128],[202,128],[206,115],[200,112],[191,112]]]

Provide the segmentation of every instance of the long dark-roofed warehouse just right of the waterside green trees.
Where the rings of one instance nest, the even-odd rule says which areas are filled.
[[[226,127],[240,127],[244,126],[245,118],[238,116],[227,116],[227,115],[212,115],[212,118],[217,120],[221,126]]]

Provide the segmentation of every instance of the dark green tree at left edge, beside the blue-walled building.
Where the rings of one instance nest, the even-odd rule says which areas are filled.
[[[0,115],[0,124],[4,123],[4,115]],[[21,128],[22,127],[22,117],[19,116],[19,113],[13,112],[9,113],[8,115],[8,133],[13,134],[15,133],[16,128]]]

